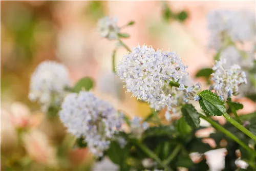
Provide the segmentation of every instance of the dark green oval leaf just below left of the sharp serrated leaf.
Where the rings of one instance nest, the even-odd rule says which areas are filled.
[[[181,112],[185,121],[191,127],[199,127],[200,115],[192,104],[185,104],[184,106],[182,106]]]

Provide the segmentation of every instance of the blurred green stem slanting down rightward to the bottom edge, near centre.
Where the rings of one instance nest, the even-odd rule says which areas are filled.
[[[170,168],[167,164],[165,164],[164,162],[162,162],[157,155],[155,155],[154,152],[151,151],[151,149],[147,148],[147,146],[145,146],[144,144],[138,142],[138,141],[134,141],[136,143],[136,145],[138,147],[140,147],[140,149],[146,153],[150,158],[154,159],[160,166],[164,167],[166,170],[168,171],[173,171],[172,168]]]

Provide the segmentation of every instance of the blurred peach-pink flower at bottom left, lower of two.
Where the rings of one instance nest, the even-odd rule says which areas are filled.
[[[22,134],[22,139],[29,156],[38,163],[55,166],[56,150],[50,145],[47,136],[37,130],[30,130]]]

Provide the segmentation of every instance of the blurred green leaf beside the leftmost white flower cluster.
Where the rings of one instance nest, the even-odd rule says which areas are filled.
[[[73,87],[73,92],[79,93],[81,90],[89,91],[93,88],[93,80],[89,77],[81,78]]]

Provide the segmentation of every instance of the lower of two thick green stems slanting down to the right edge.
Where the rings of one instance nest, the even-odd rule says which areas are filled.
[[[206,116],[200,114],[200,117],[209,122],[212,126],[214,126],[217,130],[221,131],[222,133],[226,134],[229,138],[236,141],[239,145],[241,145],[243,148],[245,148],[248,152],[253,153],[256,155],[256,152],[254,152],[251,148],[249,148],[245,143],[243,143],[237,136],[233,135],[231,132],[226,130],[224,127],[222,127],[220,124],[212,120],[211,118],[207,118]],[[242,126],[242,125],[241,125]]]

